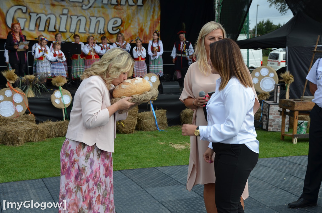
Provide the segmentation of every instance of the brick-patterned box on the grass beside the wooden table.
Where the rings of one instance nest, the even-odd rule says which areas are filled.
[[[262,128],[270,132],[281,132],[282,116],[279,115],[279,103],[273,101],[263,101],[263,124]],[[289,110],[287,110],[289,111]],[[289,131],[289,116],[285,120],[285,132]]]

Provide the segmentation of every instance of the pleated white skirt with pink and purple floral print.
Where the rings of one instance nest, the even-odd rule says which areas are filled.
[[[60,158],[59,212],[114,213],[112,153],[66,138]]]

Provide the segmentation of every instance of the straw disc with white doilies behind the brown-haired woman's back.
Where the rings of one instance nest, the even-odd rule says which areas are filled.
[[[270,92],[274,90],[275,84],[279,82],[275,69],[271,67],[258,67],[251,73],[256,92]]]

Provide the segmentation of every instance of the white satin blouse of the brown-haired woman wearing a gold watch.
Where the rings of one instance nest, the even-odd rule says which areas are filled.
[[[254,127],[255,94],[237,78],[228,81],[219,91],[221,79],[216,81],[216,92],[206,105],[208,126],[199,126],[200,139],[212,143],[245,144],[259,153],[259,141]]]

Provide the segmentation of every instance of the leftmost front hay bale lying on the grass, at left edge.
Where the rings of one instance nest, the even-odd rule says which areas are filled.
[[[3,137],[1,138],[0,143],[13,146],[22,145],[29,141],[44,141],[47,136],[39,125],[33,123],[24,123],[19,126],[3,126],[2,131]]]

